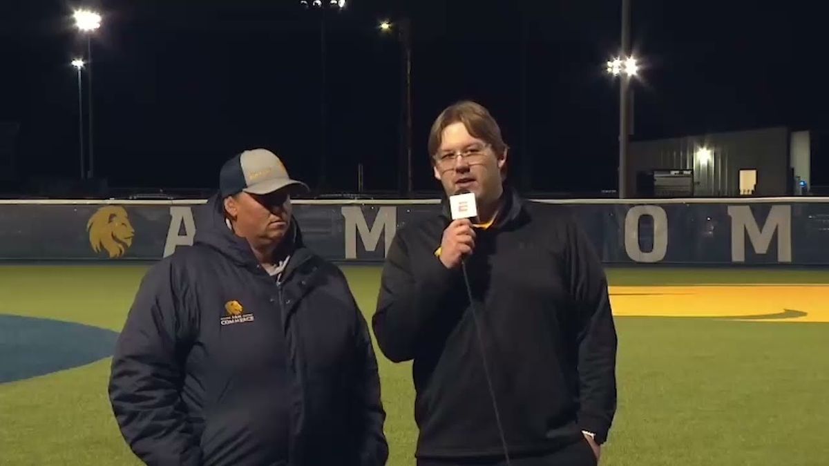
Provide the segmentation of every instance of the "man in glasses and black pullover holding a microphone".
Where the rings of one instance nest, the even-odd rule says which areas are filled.
[[[598,464],[617,337],[589,240],[564,207],[509,187],[481,105],[444,109],[429,154],[444,211],[395,235],[372,320],[386,357],[414,360],[418,464]],[[472,220],[450,215],[460,193]]]

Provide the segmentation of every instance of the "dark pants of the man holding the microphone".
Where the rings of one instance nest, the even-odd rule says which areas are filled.
[[[510,456],[512,466],[596,466],[596,455],[587,440],[549,454]],[[504,459],[418,459],[417,466],[506,466]]]

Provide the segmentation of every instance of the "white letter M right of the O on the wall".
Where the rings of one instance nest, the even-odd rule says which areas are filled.
[[[778,262],[792,261],[792,206],[772,206],[760,228],[751,206],[729,206],[731,217],[731,260],[745,262],[745,236],[748,234],[754,252],[767,254],[777,231]]]

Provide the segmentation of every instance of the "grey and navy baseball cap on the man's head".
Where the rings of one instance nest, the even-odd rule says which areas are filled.
[[[219,191],[221,197],[240,192],[269,194],[288,188],[292,195],[309,192],[303,182],[291,179],[284,163],[267,149],[246,150],[221,167]]]

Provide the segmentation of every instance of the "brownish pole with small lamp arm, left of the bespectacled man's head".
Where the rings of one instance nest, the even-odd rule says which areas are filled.
[[[388,20],[381,21],[378,26],[383,34],[397,32],[400,39],[400,52],[403,56],[402,75],[403,92],[401,98],[402,118],[400,119],[400,191],[406,197],[411,197],[414,192],[412,182],[412,47],[411,47],[411,22],[408,17],[401,18],[393,24]]]

